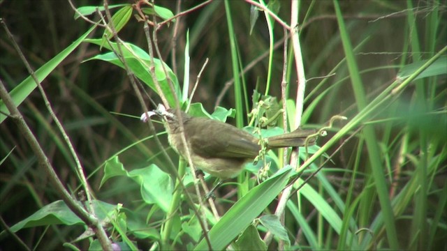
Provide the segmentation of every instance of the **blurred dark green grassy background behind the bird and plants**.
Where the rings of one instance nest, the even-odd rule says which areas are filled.
[[[123,3],[111,1],[110,4]],[[128,3],[127,1],[125,3]],[[230,54],[230,39],[235,39],[242,67],[246,67],[262,54],[268,52],[268,26],[263,13],[254,24],[250,33],[250,4],[244,1],[229,1],[235,36],[228,35],[226,9],[223,1],[213,1],[207,6],[187,13],[175,24],[163,26],[159,30],[158,45],[162,59],[173,69],[178,79],[184,74],[184,47],[186,32],[189,30],[190,82],[196,82],[196,76],[205,59],[209,59],[198,85],[193,102],[200,102],[212,113],[219,94],[226,84],[233,83],[233,67]],[[98,4],[97,1],[75,1],[76,7]],[[177,13],[177,1],[156,1],[156,4]],[[181,1],[181,10],[196,6],[198,1]],[[290,1],[278,1],[277,15],[289,23],[291,20]],[[305,65],[306,78],[309,79],[305,94],[305,112],[302,124],[308,128],[325,126],[334,115],[341,114],[352,119],[362,109],[359,102],[368,104],[383,93],[396,78],[399,70],[406,65],[423,59],[430,59],[446,46],[446,1],[340,1],[342,15],[346,24],[349,40],[356,49],[357,74],[360,75],[365,90],[365,100],[356,98],[355,87],[351,85],[352,69],[346,63],[344,38],[340,35],[339,22],[332,1],[300,2],[300,41]],[[113,11],[112,11],[113,13]],[[0,17],[4,19],[15,40],[20,45],[31,66],[36,70],[68,47],[73,40],[85,33],[91,24],[85,20],[73,18],[74,10],[67,1],[1,1]],[[413,19],[412,19],[413,18]],[[177,38],[173,40],[173,33]],[[102,29],[96,29],[91,38],[101,38]],[[131,17],[119,37],[147,50],[147,41],[142,30],[142,22]],[[279,24],[274,25],[275,42],[284,38]],[[15,52],[12,43],[3,29],[0,32],[0,77],[8,91],[29,76],[24,63]],[[283,73],[283,43],[274,50],[271,70],[270,96],[281,98],[281,77]],[[290,45],[290,43],[289,43]],[[115,153],[122,151],[139,139],[147,137],[147,126],[138,118],[118,116],[110,112],[140,116],[142,109],[131,88],[126,72],[104,61],[90,60],[92,56],[104,53],[98,46],[82,43],[70,54],[43,82],[43,87],[58,118],[70,135],[76,152],[89,176],[89,185],[96,198],[110,204],[124,204],[124,207],[139,215],[150,229],[159,229],[164,214],[142,202],[138,183],[122,177],[111,178],[99,189],[103,178],[104,162]],[[289,51],[289,56],[290,56]],[[337,208],[337,198],[326,190],[323,181],[313,178],[309,184],[323,200],[335,208],[344,227],[355,219],[355,225],[364,228],[360,231],[361,248],[386,249],[393,247],[390,241],[390,228],[397,229],[397,245],[402,249],[446,249],[447,215],[445,213],[446,185],[446,142],[447,142],[447,84],[446,57],[441,58],[441,73],[432,73],[430,77],[417,79],[403,93],[376,109],[362,125],[372,126],[378,149],[378,160],[386,176],[384,194],[391,201],[395,221],[386,222],[387,227],[374,228],[380,222],[383,208],[379,203],[381,192],[372,174],[370,149],[365,144],[365,132],[362,132],[342,146],[341,151],[332,160],[324,164],[318,175],[325,176],[330,187],[342,199],[346,211]],[[294,66],[289,63],[289,66]],[[288,83],[288,96],[294,99],[296,93],[295,68],[291,67]],[[252,68],[244,73],[246,100],[251,109],[251,94],[256,89],[264,93],[268,73],[268,56],[256,61]],[[335,75],[330,75],[335,73]],[[325,77],[330,75],[328,77]],[[323,77],[323,78],[322,78]],[[182,80],[179,81],[182,84]],[[143,86],[144,87],[144,86]],[[145,86],[147,96],[161,102],[159,96]],[[145,97],[147,97],[145,96]],[[235,96],[233,86],[224,93],[219,106],[234,108],[240,97]],[[145,100],[149,104],[149,100]],[[154,108],[154,107],[149,107]],[[56,167],[59,178],[71,191],[78,191],[80,181],[75,175],[75,163],[61,142],[45,104],[34,91],[20,105],[20,111],[38,138],[47,157]],[[244,114],[250,111],[245,109]],[[247,126],[247,116],[244,116]],[[235,123],[229,120],[229,123]],[[329,135],[318,140],[323,146],[344,123],[335,123]],[[157,132],[163,131],[156,126]],[[48,177],[37,165],[34,153],[11,119],[0,125],[0,215],[8,226],[27,218],[43,206],[59,200],[54,189],[48,185]],[[365,133],[365,134],[363,134]],[[346,139],[346,135],[343,139]],[[161,136],[163,146],[168,146],[166,137]],[[332,146],[326,153],[331,154],[338,146]],[[12,153],[9,154],[9,152]],[[160,149],[152,141],[138,144],[119,154],[119,160],[126,170],[140,169],[149,164],[163,166],[166,160],[157,155]],[[168,151],[174,162],[177,155]],[[8,155],[9,154],[9,155]],[[315,162],[322,165],[325,159]],[[305,175],[309,176],[310,172]],[[254,182],[253,182],[254,183]],[[250,188],[253,183],[250,183]],[[218,195],[226,195],[237,186],[222,188]],[[412,192],[406,192],[412,191]],[[190,191],[193,193],[193,190]],[[383,191],[382,191],[383,193]],[[379,194],[379,195],[378,195]],[[77,193],[74,192],[77,196]],[[407,198],[400,200],[399,196]],[[235,196],[230,199],[237,200]],[[344,249],[343,239],[324,220],[323,212],[312,204],[312,199],[293,198],[293,205],[300,204],[300,214],[293,206],[286,213],[286,229],[292,240],[291,249]],[[217,201],[221,212],[226,212],[233,202]],[[187,205],[182,204],[184,211]],[[274,211],[274,203],[266,212]],[[153,215],[152,215],[153,214]],[[130,214],[129,214],[130,215]],[[344,218],[346,217],[346,218]],[[155,219],[152,221],[152,219]],[[302,219],[309,224],[315,234],[303,236]],[[182,219],[184,220],[184,219]],[[259,228],[258,228],[259,229]],[[372,230],[371,230],[372,229]],[[3,230],[3,227],[2,227]],[[22,241],[29,247],[42,250],[57,250],[62,244],[73,241],[83,231],[82,225],[49,225],[48,227],[30,227],[17,231]],[[354,230],[354,229],[351,229]],[[357,229],[358,230],[358,229]],[[181,229],[174,229],[177,234]],[[253,229],[250,229],[253,231]],[[306,231],[306,230],[304,230]],[[200,230],[197,231],[200,233]],[[154,230],[154,233],[158,233]],[[260,231],[261,236],[263,231]],[[200,234],[199,234],[200,235]],[[356,235],[356,236],[360,236]],[[154,234],[156,236],[156,234]],[[182,236],[181,243],[173,247],[189,248],[197,240]],[[139,243],[143,248],[152,245],[154,238],[146,238]],[[342,241],[339,241],[341,238]],[[346,236],[344,236],[346,238]],[[365,242],[365,239],[369,241]],[[150,241],[148,241],[148,239]],[[171,239],[172,241],[172,239]],[[278,240],[276,239],[278,242]],[[295,242],[296,241],[296,242]],[[364,241],[362,243],[362,241]],[[277,248],[277,242],[269,248]],[[391,242],[391,243],[390,243]],[[191,246],[186,246],[188,243]],[[193,243],[193,244],[191,244]],[[347,242],[346,242],[347,243]],[[184,245],[182,245],[184,244]],[[13,250],[15,241],[10,236],[1,236],[1,250]],[[89,241],[76,243],[79,248],[89,248]],[[243,246],[242,246],[243,247]]]

